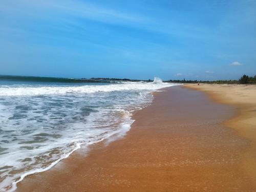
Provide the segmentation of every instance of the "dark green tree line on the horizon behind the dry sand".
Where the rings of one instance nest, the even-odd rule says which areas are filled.
[[[216,80],[216,81],[202,81],[202,80],[168,80],[165,82],[176,82],[176,83],[215,83],[215,84],[256,84],[256,75],[249,77],[243,75],[239,80]]]

